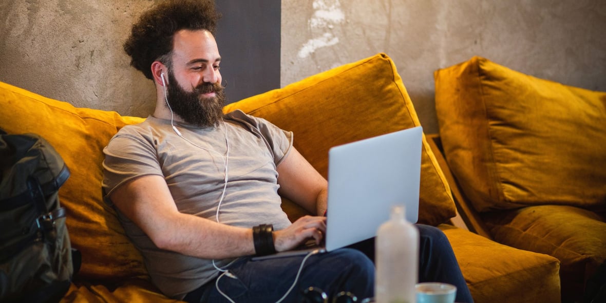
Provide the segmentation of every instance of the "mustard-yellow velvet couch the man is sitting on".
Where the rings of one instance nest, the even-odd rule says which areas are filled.
[[[331,146],[419,125],[396,67],[384,54],[229,104],[225,111],[235,108],[293,131],[298,150],[324,176]],[[102,148],[119,128],[143,119],[76,108],[1,82],[0,117],[0,128],[8,133],[44,136],[72,171],[59,195],[82,267],[63,301],[173,301],[150,284],[142,256],[101,199]],[[475,302],[560,301],[558,259],[449,224],[456,213],[450,186],[425,137],[421,170],[419,222],[444,230]],[[288,201],[283,205],[290,218],[304,213]]]

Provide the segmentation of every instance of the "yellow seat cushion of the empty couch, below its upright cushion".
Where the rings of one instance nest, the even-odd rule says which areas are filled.
[[[606,223],[592,211],[539,205],[485,215],[494,240],[561,261],[562,298],[580,300],[585,281],[606,261]]]

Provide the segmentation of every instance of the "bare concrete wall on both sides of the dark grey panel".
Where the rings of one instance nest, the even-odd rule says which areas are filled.
[[[2,0],[0,81],[147,116],[153,84],[129,67],[122,42],[154,2]],[[473,55],[606,91],[604,0],[282,0],[281,14],[282,86],[385,52],[427,133],[438,131],[433,71]]]

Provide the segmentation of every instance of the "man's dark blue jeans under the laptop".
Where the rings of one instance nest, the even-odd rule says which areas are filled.
[[[457,287],[456,302],[473,302],[454,258],[450,242],[441,230],[419,228],[419,282],[445,282]],[[243,258],[228,268],[235,278],[220,276],[192,291],[188,302],[276,302],[293,285],[305,256],[251,261]],[[295,287],[282,302],[301,302],[308,287],[324,290],[329,298],[341,291],[354,293],[361,301],[375,295],[375,239],[348,248],[311,255],[305,260]],[[216,287],[215,283],[218,285]],[[221,292],[220,292],[220,291]]]

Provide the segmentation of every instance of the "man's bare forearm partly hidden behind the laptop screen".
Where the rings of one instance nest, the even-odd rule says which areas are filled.
[[[278,193],[317,216],[324,215],[328,200],[328,182],[316,168],[292,148],[278,165]]]

